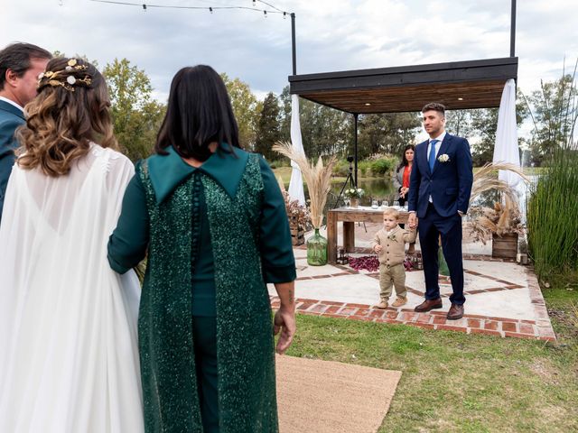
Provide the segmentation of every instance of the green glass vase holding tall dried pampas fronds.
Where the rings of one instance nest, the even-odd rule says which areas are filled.
[[[322,158],[319,157],[314,164],[307,160],[303,152],[296,152],[290,142],[277,142],[273,150],[299,166],[309,190],[309,217],[315,233],[307,240],[307,263],[312,266],[327,264],[327,239],[320,235],[319,229],[323,223],[323,208],[331,189],[331,174],[337,159],[335,155],[331,155],[327,165],[323,165]]]

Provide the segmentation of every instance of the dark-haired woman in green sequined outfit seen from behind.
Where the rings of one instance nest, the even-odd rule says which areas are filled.
[[[153,156],[136,166],[108,243],[120,273],[147,254],[139,346],[147,432],[276,432],[276,345],[295,332],[284,198],[238,147],[227,89],[181,69]],[[281,307],[271,320],[266,283]]]

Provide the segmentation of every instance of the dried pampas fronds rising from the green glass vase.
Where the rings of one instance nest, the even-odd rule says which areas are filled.
[[[323,208],[327,202],[327,194],[331,189],[331,173],[337,162],[335,155],[331,155],[327,165],[323,165],[321,157],[317,160],[317,164],[313,165],[307,160],[303,152],[295,152],[293,144],[290,142],[277,142],[273,146],[273,150],[286,156],[299,166],[303,180],[309,189],[311,223],[313,228],[319,228],[323,223]]]

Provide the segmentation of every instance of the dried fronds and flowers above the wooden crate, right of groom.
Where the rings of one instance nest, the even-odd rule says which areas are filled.
[[[529,182],[527,176],[514,164],[506,162],[491,162],[478,170],[473,176],[470,203],[481,193],[498,190],[503,197],[503,203],[495,203],[494,207],[471,207],[470,232],[475,241],[486,244],[490,235],[509,235],[524,232],[521,215],[517,205],[517,194],[505,181],[499,180],[496,171],[509,170],[517,173],[522,180]]]

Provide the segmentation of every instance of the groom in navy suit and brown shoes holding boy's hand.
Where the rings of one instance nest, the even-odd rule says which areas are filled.
[[[453,291],[447,318],[454,320],[463,316],[466,300],[463,296],[461,217],[468,211],[473,181],[470,144],[464,138],[445,132],[445,107],[442,104],[427,104],[422,114],[424,129],[430,138],[415,147],[408,198],[409,226],[417,226],[419,217],[419,243],[425,277],[425,300],[415,307],[415,311],[443,307],[437,260],[441,235]]]

